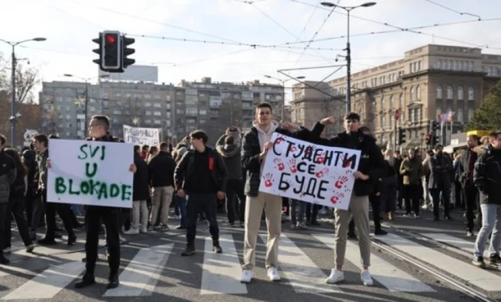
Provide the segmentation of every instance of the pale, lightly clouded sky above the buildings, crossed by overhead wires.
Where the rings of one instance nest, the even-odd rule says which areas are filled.
[[[337,3],[338,0],[332,0]],[[44,81],[69,80],[63,73],[84,78],[97,75],[92,52],[102,30],[119,30],[136,39],[132,56],[137,64],[158,65],[159,81],[178,84],[180,80],[242,82],[272,75],[286,78],[277,69],[342,64],[336,54],[344,54],[347,16],[343,10],[320,5],[320,0],[16,0],[2,3],[0,38],[25,40],[37,36],[45,42],[16,47],[18,58],[29,58],[40,69]],[[434,2],[434,3],[432,3]],[[359,5],[364,1],[340,0],[340,5]],[[443,8],[439,5],[444,5]],[[404,51],[426,44],[485,47],[482,51],[501,54],[501,10],[499,0],[380,0],[371,8],[351,12],[352,71],[360,71],[397,60]],[[475,21],[456,25],[427,27],[422,34],[396,30],[384,34],[370,32],[409,29],[424,25]],[[376,22],[374,22],[376,21]],[[384,25],[387,23],[388,25]],[[149,37],[141,37],[141,35]],[[159,37],[159,38],[152,38]],[[180,38],[211,42],[243,43],[225,45],[163,39]],[[447,38],[447,39],[445,39]],[[288,44],[294,49],[288,49]],[[250,47],[248,45],[257,45]],[[279,47],[270,47],[279,45]],[[266,46],[266,47],[261,47]],[[321,48],[321,49],[315,49]],[[10,56],[9,45],[0,43],[3,56]],[[307,80],[322,80],[334,71],[312,69],[288,71]],[[342,68],[328,79],[345,75]],[[289,81],[286,86],[291,86]]]

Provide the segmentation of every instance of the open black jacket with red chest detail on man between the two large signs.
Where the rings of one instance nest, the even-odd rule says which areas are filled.
[[[212,148],[205,147],[209,156],[207,158],[207,165],[209,165],[209,173],[211,174],[212,181],[218,187],[218,191],[226,191],[226,183],[228,183],[228,171],[226,166],[221,159],[218,152],[215,152]],[[180,160],[174,170],[174,183],[176,184],[176,189],[186,189],[187,183],[193,178],[193,174],[196,173],[195,156],[194,150],[189,150],[185,153],[183,158]]]

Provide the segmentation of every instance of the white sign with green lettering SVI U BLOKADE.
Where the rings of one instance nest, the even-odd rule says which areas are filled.
[[[47,202],[132,207],[134,145],[51,139],[49,159]]]

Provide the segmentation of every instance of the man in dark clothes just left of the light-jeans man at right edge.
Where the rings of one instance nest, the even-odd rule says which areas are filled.
[[[474,211],[476,209],[476,200],[478,196],[478,189],[474,185],[473,178],[475,162],[478,159],[478,154],[474,149],[478,146],[479,142],[480,141],[478,136],[468,135],[468,137],[466,138],[468,149],[463,152],[458,160],[460,173],[459,182],[461,183],[461,188],[463,189],[466,208],[466,235],[469,237],[474,235]]]

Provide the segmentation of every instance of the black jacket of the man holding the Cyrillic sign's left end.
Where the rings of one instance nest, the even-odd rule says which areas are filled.
[[[277,128],[275,132],[296,139],[305,140],[305,132],[289,132],[282,128]],[[246,171],[246,181],[244,192],[246,196],[257,196],[259,185],[261,184],[261,146],[259,145],[259,135],[255,127],[250,128],[242,139],[242,168]]]

